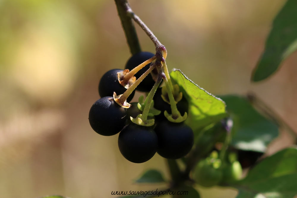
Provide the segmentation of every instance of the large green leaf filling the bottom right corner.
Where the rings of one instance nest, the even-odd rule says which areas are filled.
[[[237,198],[293,198],[297,195],[297,149],[286,148],[267,157],[239,181]]]

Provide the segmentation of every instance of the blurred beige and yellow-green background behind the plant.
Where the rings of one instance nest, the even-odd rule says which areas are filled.
[[[269,79],[251,83],[271,23],[285,0],[130,0],[134,12],[167,48],[178,68],[212,94],[253,91],[296,131],[297,56]],[[154,45],[137,27],[144,51]],[[130,57],[112,0],[0,1],[0,197],[116,197],[111,191],[166,189],[136,185],[145,169],[169,179],[158,154],[133,164],[117,135],[89,126],[99,79]],[[134,101],[138,100],[138,93]],[[284,132],[268,153],[291,145]],[[201,197],[236,197],[236,190],[200,188]]]

